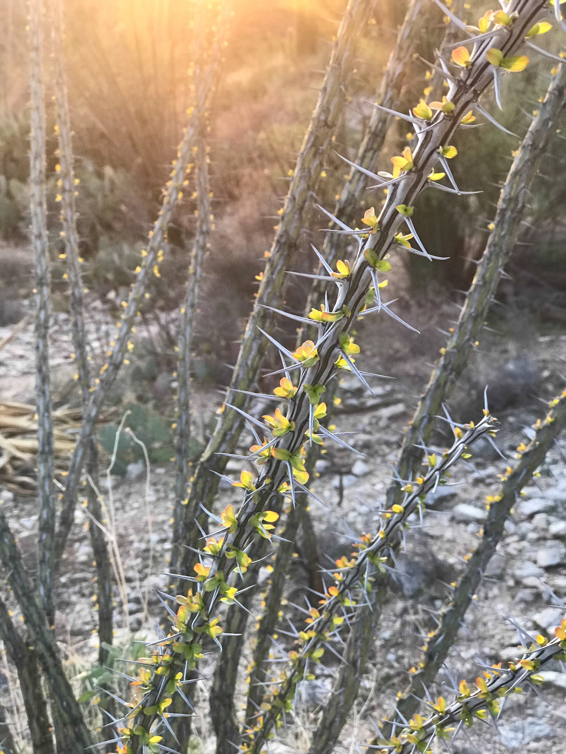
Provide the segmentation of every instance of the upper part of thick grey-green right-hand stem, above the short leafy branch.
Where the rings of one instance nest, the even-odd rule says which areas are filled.
[[[434,417],[441,412],[441,404],[450,396],[478,342],[501,272],[518,239],[521,219],[529,201],[529,187],[565,104],[566,66],[560,66],[509,170],[497,204],[494,229],[481,256],[466,303],[403,439],[397,461],[401,479],[411,479],[416,474],[423,457],[417,445],[428,442]],[[393,482],[387,492],[388,502],[391,504],[399,495],[399,486]]]

